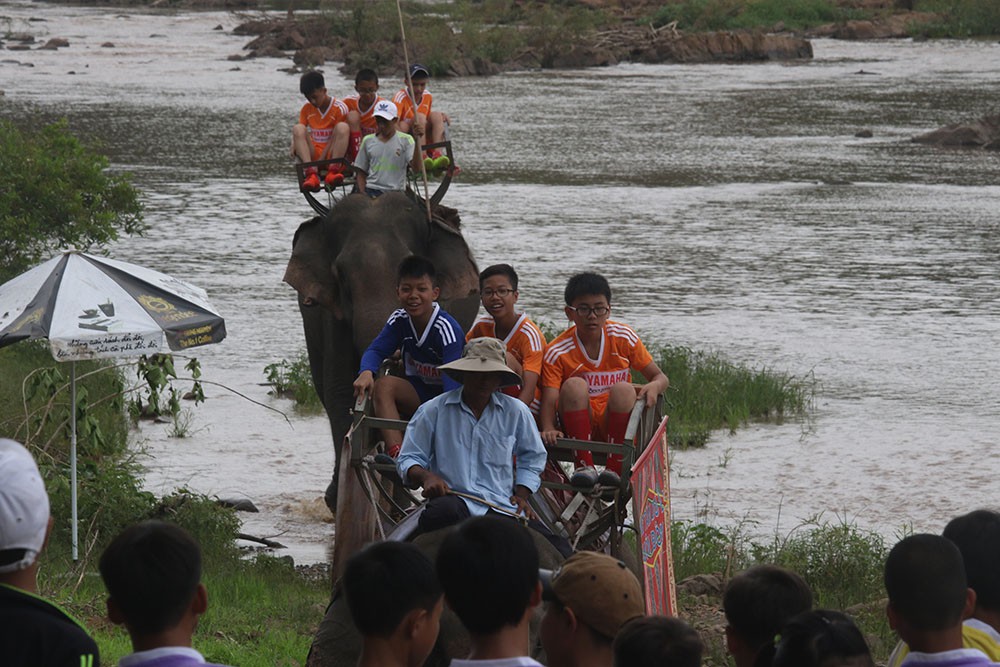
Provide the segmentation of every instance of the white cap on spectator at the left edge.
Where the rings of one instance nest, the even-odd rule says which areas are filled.
[[[35,459],[19,443],[0,438],[0,551],[25,549],[24,558],[0,573],[30,567],[45,543],[49,495]]]

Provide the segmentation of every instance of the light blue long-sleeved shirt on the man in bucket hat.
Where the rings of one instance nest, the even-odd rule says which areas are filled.
[[[517,470],[514,457],[517,457]],[[403,481],[415,465],[430,470],[456,491],[484,498],[515,511],[514,487],[538,490],[545,468],[545,446],[528,406],[494,392],[476,419],[452,389],[423,405],[406,427],[396,466]],[[472,516],[486,514],[482,503],[463,498]]]

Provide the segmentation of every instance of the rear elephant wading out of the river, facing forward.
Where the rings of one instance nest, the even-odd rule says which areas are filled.
[[[438,301],[467,330],[479,309],[479,273],[455,209],[438,205],[428,220],[401,192],[349,195],[325,217],[302,223],[292,242],[284,281],[298,292],[313,384],[333,433],[336,463],[325,500],[334,514],[352,384],[361,355],[399,307],[396,268],[410,255],[434,263]]]

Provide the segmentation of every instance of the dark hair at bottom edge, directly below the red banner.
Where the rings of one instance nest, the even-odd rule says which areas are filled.
[[[613,646],[615,667],[699,667],[705,650],[694,628],[666,616],[629,621],[618,631]]]

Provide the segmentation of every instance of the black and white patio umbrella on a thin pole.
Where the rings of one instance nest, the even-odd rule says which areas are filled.
[[[77,558],[76,360],[218,343],[226,324],[205,290],[150,269],[70,251],[0,285],[0,347],[47,338],[69,361],[70,498]]]

